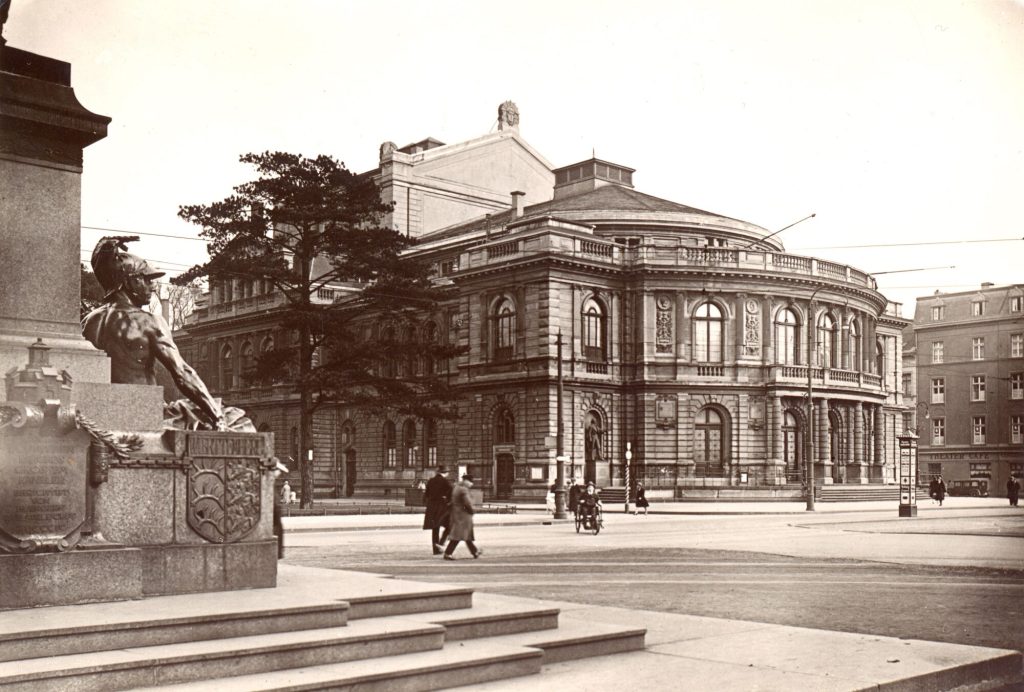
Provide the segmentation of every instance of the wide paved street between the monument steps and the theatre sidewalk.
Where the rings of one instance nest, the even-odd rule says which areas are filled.
[[[609,511],[596,536],[527,514],[481,515],[483,558],[463,547],[455,563],[430,555],[414,517],[396,517],[402,528],[325,531],[296,518],[287,559],[514,596],[1024,650],[1019,510],[925,506],[915,519],[895,510]]]

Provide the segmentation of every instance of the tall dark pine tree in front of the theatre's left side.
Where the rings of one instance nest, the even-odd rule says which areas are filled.
[[[432,363],[457,354],[420,334],[443,299],[428,267],[401,252],[410,241],[384,227],[390,206],[369,176],[327,156],[247,154],[258,177],[209,205],[178,215],[202,227],[210,259],[175,277],[211,284],[265,280],[285,297],[279,326],[294,335],[257,357],[248,381],[294,383],[299,394],[300,507],[311,507],[313,413],[325,405],[423,419],[455,417],[455,396]],[[341,297],[325,300],[324,292]],[[418,332],[419,331],[419,332]],[[424,363],[410,367],[410,363]],[[399,364],[404,366],[399,366]]]

